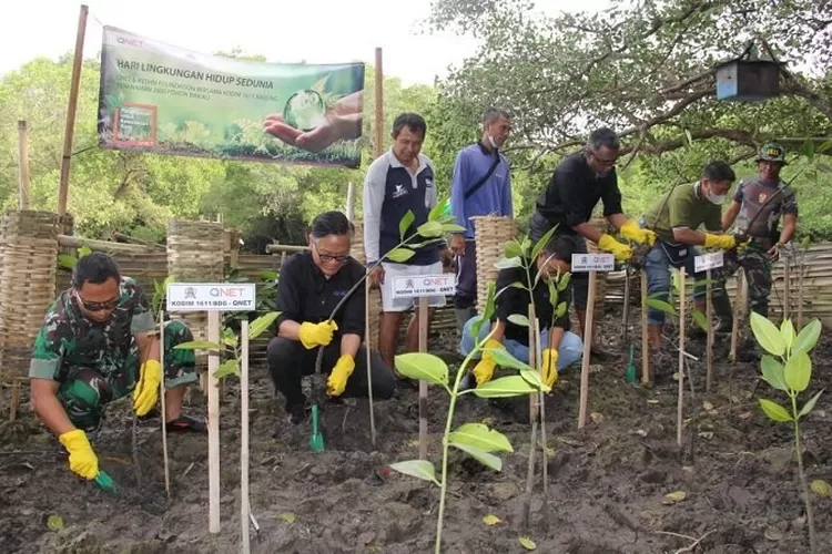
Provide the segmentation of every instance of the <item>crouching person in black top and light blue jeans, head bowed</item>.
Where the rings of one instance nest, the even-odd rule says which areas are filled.
[[[551,387],[558,379],[558,369],[578,361],[581,357],[584,345],[580,338],[569,331],[569,288],[558,293],[558,305],[566,302],[558,317],[557,308],[551,305],[549,296],[549,281],[554,280],[557,286],[559,277],[568,273],[576,242],[571,236],[555,235],[544,247],[542,252],[531,265],[531,279],[536,280],[538,273],[540,279],[534,288],[535,315],[540,321],[540,349],[542,352],[544,381]],[[514,283],[522,283],[528,286],[526,270],[521,267],[501,269],[497,275],[496,289],[499,293],[495,302],[495,315],[493,321],[484,321],[479,329],[477,341],[485,339],[495,326],[494,335],[486,342],[486,349],[505,348],[520,361],[529,361],[529,329],[516,325],[509,320],[513,315],[528,317],[529,293],[528,290],[511,286]],[[505,290],[504,290],[505,289]],[[501,293],[500,293],[501,290]],[[468,356],[474,350],[474,334],[471,327],[478,317],[474,317],[465,324],[459,351]],[[477,384],[483,384],[491,379],[496,362],[488,350],[473,370]],[[466,379],[466,388],[470,381]]]

